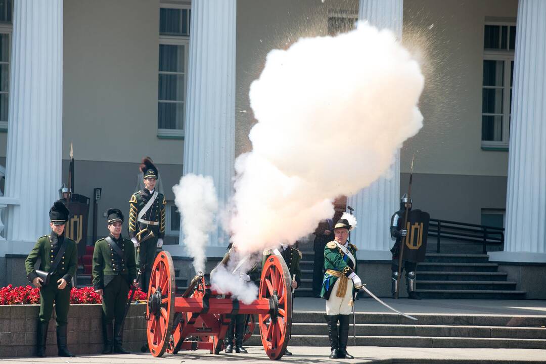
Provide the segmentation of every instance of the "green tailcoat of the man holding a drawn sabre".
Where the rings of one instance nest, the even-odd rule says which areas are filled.
[[[357,259],[357,247],[353,244],[348,244],[348,250],[354,256],[354,259]],[[357,273],[358,265],[354,266],[353,261],[349,259],[349,256],[343,253],[340,247],[333,241],[326,244],[324,247],[324,270],[334,270],[342,272],[343,275],[349,276],[352,272]],[[328,273],[324,273],[324,280],[322,282],[321,297],[325,300],[330,298],[330,293],[334,288],[334,284],[337,281],[337,277],[331,276]],[[354,286],[353,293],[354,293]]]

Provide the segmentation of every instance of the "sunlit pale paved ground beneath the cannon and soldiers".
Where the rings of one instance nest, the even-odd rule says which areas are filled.
[[[349,348],[349,353],[354,355],[353,360],[329,359],[328,348],[294,347],[290,350],[292,357],[283,357],[280,362],[286,363],[544,363],[546,362],[546,350],[535,349],[428,349],[428,348],[379,348],[358,347]],[[20,363],[112,363],[112,364],[187,364],[199,361],[206,364],[217,363],[274,363],[267,359],[260,347],[249,348],[248,354],[221,354],[212,355],[208,351],[183,351],[178,355],[164,355],[154,358],[150,354],[131,355],[88,355],[77,358],[47,357],[0,359],[3,364]]]

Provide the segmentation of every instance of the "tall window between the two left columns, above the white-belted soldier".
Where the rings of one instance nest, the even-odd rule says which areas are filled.
[[[186,4],[161,4],[159,8],[159,138],[184,136],[190,15]]]

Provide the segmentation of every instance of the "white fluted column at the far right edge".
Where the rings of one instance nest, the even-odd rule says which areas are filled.
[[[516,26],[505,247],[489,255],[546,262],[546,2],[520,0]]]

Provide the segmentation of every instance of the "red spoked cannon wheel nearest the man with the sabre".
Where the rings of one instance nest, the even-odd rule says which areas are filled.
[[[292,330],[292,290],[288,267],[282,258],[271,255],[262,269],[258,300],[269,300],[268,314],[258,315],[260,336],[270,359],[281,359]]]

